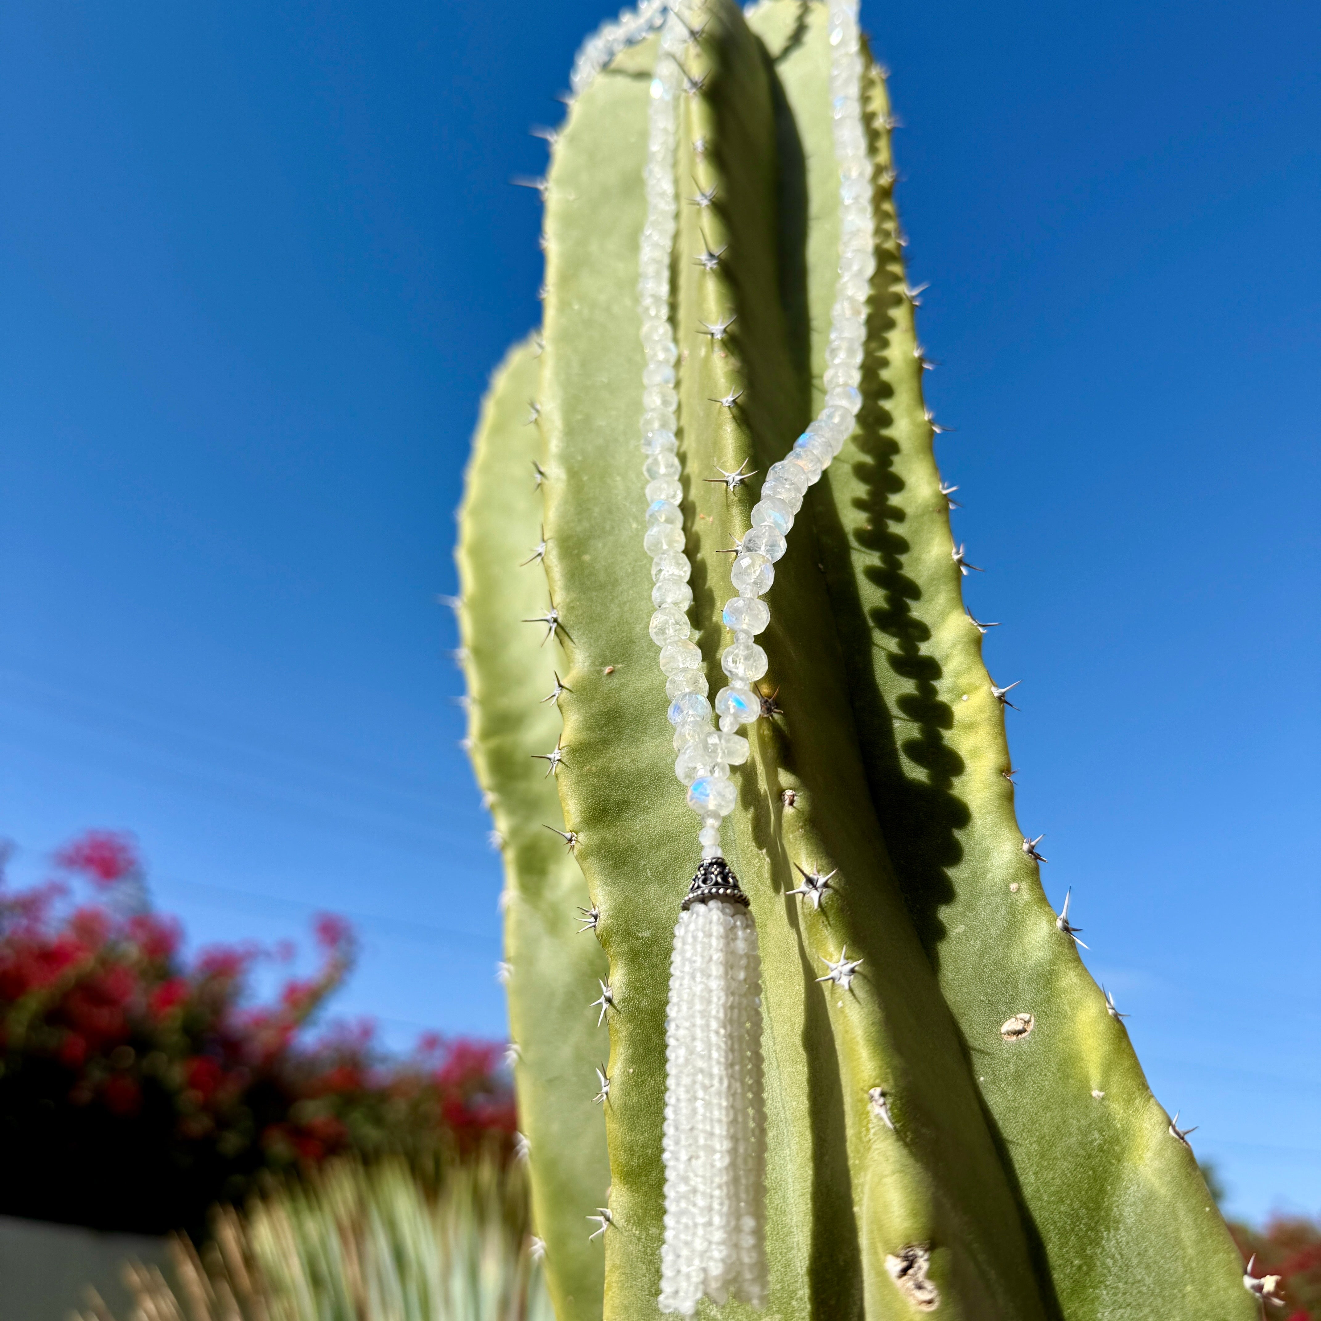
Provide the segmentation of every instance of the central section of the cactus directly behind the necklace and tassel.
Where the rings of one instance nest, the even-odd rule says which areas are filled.
[[[705,234],[686,211],[678,256],[680,317],[690,332],[682,345],[688,552],[694,618],[701,621],[716,617],[732,594],[719,551],[748,526],[744,497],[727,497],[701,477],[716,461],[736,468],[740,457],[764,469],[807,416],[806,378],[777,303],[775,123],[764,55],[729,5],[715,8],[709,30],[703,45],[720,65],[712,89],[724,81],[729,99],[721,108],[712,90],[711,120],[701,119],[704,98],[694,98],[691,114],[709,123],[713,139],[727,139],[713,168],[728,205],[704,218]],[[556,147],[547,198],[547,572],[569,631],[573,688],[564,703],[560,794],[565,819],[581,835],[579,859],[601,910],[618,1003],[606,1070],[608,1317],[655,1310],[668,951],[696,864],[695,822],[671,770],[663,676],[646,634],[651,584],[633,439],[642,369],[633,288],[649,82],[617,65],[579,98]],[[600,223],[602,214],[609,226]],[[758,214],[762,232],[738,232],[749,223],[738,217]],[[695,244],[724,240],[716,229],[721,215],[729,217],[728,236],[737,238],[729,273],[697,280]],[[723,359],[691,334],[691,320],[720,320],[729,300],[746,332]],[[748,367],[741,419],[711,402],[737,383],[728,374],[734,355]],[[765,942],[771,1306],[835,1314],[856,1313],[865,1301],[877,1317],[908,1316],[885,1256],[931,1242],[933,1279],[947,1314],[1036,1317],[1040,1301],[1012,1197],[952,1025],[885,869],[810,519],[797,540],[771,598],[785,622],[769,646],[777,676],[783,667],[802,695],[802,715],[791,727],[791,749],[781,733],[758,732],[758,765],[746,777],[728,843]],[[709,627],[701,641],[713,657],[724,637]],[[713,683],[717,674],[712,666]],[[827,901],[807,918],[785,894],[794,881],[778,795],[793,783],[803,793],[789,827],[794,851],[815,852],[812,861],[838,863],[851,877],[847,898]],[[841,943],[864,955],[868,971],[851,993],[827,996],[816,978]],[[909,1110],[898,1136],[878,1135],[868,1087],[896,1077],[911,1079]],[[584,1077],[584,1092],[594,1087]]]

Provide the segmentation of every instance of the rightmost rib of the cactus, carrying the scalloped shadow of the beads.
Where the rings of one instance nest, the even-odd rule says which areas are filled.
[[[779,73],[810,170],[819,382],[838,221],[810,46],[808,38],[795,48]],[[869,108],[884,170],[892,160],[880,77]],[[876,197],[882,229],[897,225],[889,188]],[[823,481],[815,494],[872,798],[909,911],[976,1061],[1053,1305],[1069,1321],[1247,1321],[1256,1305],[1197,1162],[1170,1133],[1125,1029],[1055,929],[1037,864],[1022,851],[1013,785],[1001,774],[1011,766],[1004,709],[951,559],[913,304],[893,239],[880,244],[878,262],[867,404],[828,487]],[[1007,1042],[1000,1026],[1020,1012],[1034,1016],[1033,1030]]]

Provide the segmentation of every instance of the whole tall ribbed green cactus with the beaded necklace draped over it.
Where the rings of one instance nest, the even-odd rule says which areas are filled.
[[[676,168],[716,202],[680,209],[674,324],[690,617],[719,687],[720,602],[737,594],[720,552],[746,531],[757,481],[703,478],[765,472],[820,407],[839,203],[823,7],[700,8]],[[493,380],[458,550],[472,752],[505,853],[519,1107],[561,1321],[657,1314],[668,959],[697,860],[647,635],[635,445],[655,45],[620,53],[553,144],[544,324]],[[724,836],[764,956],[770,1312],[1247,1318],[1193,1153],[1015,818],[1004,690],[963,608],[922,402],[875,65],[865,91],[865,402],[775,568],[760,641],[783,711],[749,727]],[[695,260],[708,244],[727,247],[715,272]],[[695,333],[731,308],[725,341]],[[708,403],[731,390],[737,410]],[[789,894],[795,867],[834,873],[819,909]],[[859,975],[823,988],[843,946]],[[598,979],[616,1003],[600,1025]],[[910,1248],[930,1254],[934,1297],[886,1268]]]

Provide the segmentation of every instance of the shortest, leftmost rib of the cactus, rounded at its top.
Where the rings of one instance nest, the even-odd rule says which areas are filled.
[[[458,617],[469,746],[505,859],[509,1017],[535,1232],[560,1321],[598,1321],[604,1269],[584,1226],[605,1203],[609,1165],[601,1114],[579,1082],[597,1058],[584,1007],[606,960],[590,934],[579,934],[587,882],[564,841],[544,828],[568,827],[546,762],[530,756],[548,752],[560,733],[555,703],[542,700],[555,687],[556,649],[540,645],[540,626],[523,622],[547,609],[544,571],[520,563],[542,540],[532,462],[543,446],[540,427],[528,421],[539,376],[532,345],[518,345],[482,407],[460,520]]]

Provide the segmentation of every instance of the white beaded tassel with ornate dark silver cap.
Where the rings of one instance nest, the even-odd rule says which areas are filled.
[[[683,901],[666,1020],[660,1310],[705,1295],[766,1301],[761,959],[748,898],[723,857]]]

